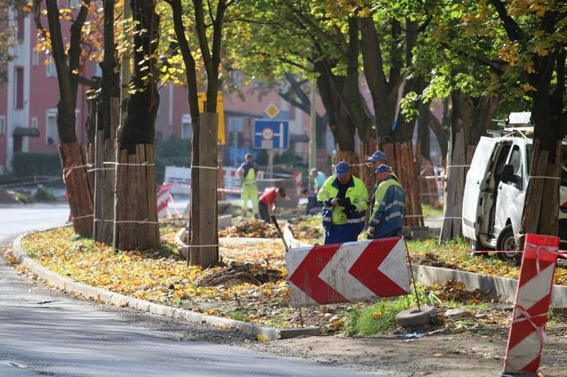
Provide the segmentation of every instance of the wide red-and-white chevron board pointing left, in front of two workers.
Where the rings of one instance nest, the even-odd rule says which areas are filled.
[[[294,306],[410,292],[405,247],[399,237],[290,249],[286,264]]]

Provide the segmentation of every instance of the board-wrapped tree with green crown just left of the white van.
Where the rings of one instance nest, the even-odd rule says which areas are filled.
[[[422,105],[432,99],[443,99],[444,109],[448,109],[451,100],[440,240],[461,235],[461,208],[468,164],[498,108],[501,75],[496,68],[497,62],[493,61],[495,56],[485,30],[476,28],[474,22],[468,23],[468,28],[459,28],[462,18],[476,11],[476,1],[449,3],[439,4],[432,10],[434,18],[417,40],[412,69],[427,82],[424,90],[405,96],[401,111],[411,117],[408,107],[414,111],[419,108],[419,115],[429,118],[439,135],[444,123],[433,119],[429,109],[425,108],[427,106]],[[471,28],[475,28],[474,33]]]

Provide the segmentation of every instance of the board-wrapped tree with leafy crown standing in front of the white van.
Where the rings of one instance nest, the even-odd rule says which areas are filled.
[[[564,1],[489,0],[485,9],[498,18],[503,35],[495,42],[506,63],[506,77],[515,77],[532,100],[534,145],[524,213],[526,233],[559,234],[558,205],[561,142],[567,133],[566,56],[567,4]]]

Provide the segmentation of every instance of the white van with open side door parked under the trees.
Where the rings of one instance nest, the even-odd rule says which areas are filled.
[[[481,137],[466,174],[462,229],[473,250],[516,249],[529,180],[532,157],[529,135],[533,134],[533,128],[510,128],[501,133],[502,136]],[[561,191],[557,206],[559,237],[563,244],[567,242],[566,142],[561,153]],[[513,254],[498,253],[498,256],[511,259]]]

